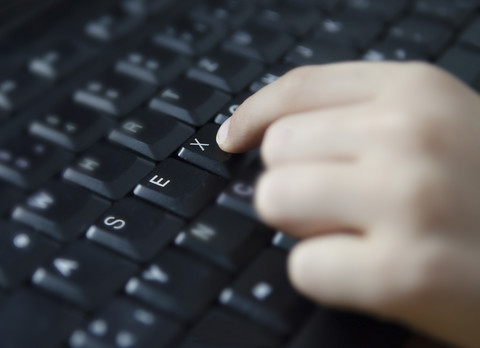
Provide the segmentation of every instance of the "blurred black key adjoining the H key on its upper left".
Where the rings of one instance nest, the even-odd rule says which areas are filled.
[[[80,152],[93,145],[114,122],[95,110],[67,100],[30,124],[30,133],[68,150]]]

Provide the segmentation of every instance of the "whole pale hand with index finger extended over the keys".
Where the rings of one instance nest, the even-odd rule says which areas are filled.
[[[220,147],[261,146],[255,206],[301,242],[313,300],[480,347],[480,98],[422,63],[295,69],[247,99]]]

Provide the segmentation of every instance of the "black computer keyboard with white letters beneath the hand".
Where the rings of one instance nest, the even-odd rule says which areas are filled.
[[[4,8],[2,8],[4,6]],[[480,89],[477,0],[0,5],[0,346],[404,347],[288,282],[258,152],[215,135],[288,70],[424,60]]]

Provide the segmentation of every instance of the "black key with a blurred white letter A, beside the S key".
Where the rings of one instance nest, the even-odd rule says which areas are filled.
[[[134,264],[88,242],[68,245],[32,276],[36,286],[82,308],[92,309],[136,271]]]

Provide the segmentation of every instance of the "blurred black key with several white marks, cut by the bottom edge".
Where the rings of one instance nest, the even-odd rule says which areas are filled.
[[[173,320],[126,299],[116,298],[108,302],[85,329],[73,332],[70,347],[162,348],[179,333],[180,325]]]

